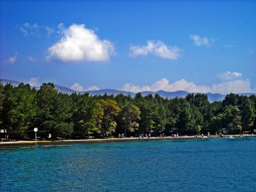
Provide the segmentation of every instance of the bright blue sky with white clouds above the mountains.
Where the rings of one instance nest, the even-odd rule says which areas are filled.
[[[256,1],[1,1],[0,78],[256,93]]]

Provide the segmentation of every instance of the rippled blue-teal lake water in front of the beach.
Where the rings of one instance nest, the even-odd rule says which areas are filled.
[[[0,145],[0,191],[256,191],[255,160],[255,137]]]

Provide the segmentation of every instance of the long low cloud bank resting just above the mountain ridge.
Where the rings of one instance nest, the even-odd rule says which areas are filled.
[[[220,93],[220,94],[227,94],[227,93],[246,93],[252,92],[250,88],[250,81],[249,80],[235,80],[235,81],[228,81],[223,82],[220,84],[213,84],[212,87],[210,86],[198,86],[195,85],[194,82],[188,82],[184,79],[178,80],[174,83],[169,83],[169,80],[163,78],[159,81],[156,81],[151,86],[136,86],[131,85],[130,83],[125,83],[122,90],[130,91],[133,93],[143,92],[143,91],[152,91],[157,92],[159,90],[163,90],[166,92],[175,92],[175,91],[187,91],[190,93]]]

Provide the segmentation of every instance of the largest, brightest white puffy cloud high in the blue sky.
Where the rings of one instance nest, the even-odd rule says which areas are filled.
[[[48,48],[47,59],[56,57],[62,61],[107,61],[114,52],[113,44],[108,40],[99,40],[91,29],[84,24],[72,24],[68,29],[61,23],[58,33],[62,34],[59,42]]]

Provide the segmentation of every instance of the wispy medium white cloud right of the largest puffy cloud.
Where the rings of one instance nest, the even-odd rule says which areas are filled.
[[[167,46],[162,41],[147,41],[145,46],[131,46],[131,56],[147,55],[149,53],[164,59],[177,59],[181,56],[181,49],[177,46]]]

